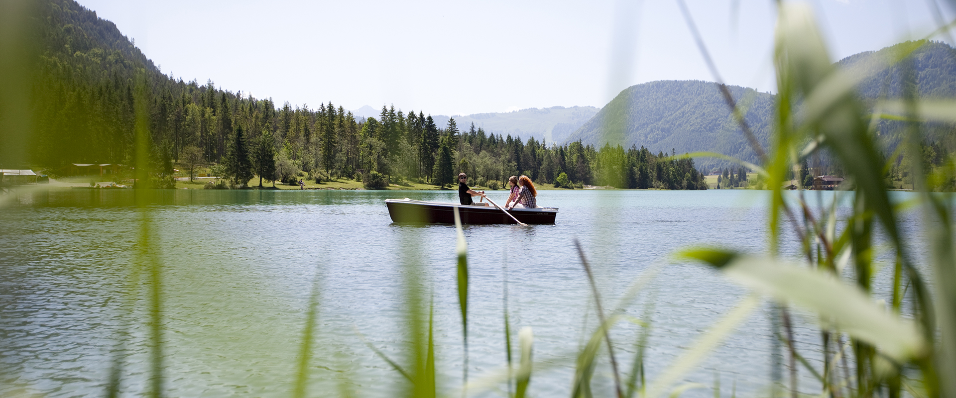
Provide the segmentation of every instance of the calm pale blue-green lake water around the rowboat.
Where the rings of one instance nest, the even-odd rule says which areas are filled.
[[[148,195],[149,204],[134,206],[136,195]],[[403,275],[414,270],[424,272],[416,282],[434,298],[439,388],[454,395],[463,370],[455,228],[393,224],[383,200],[456,201],[456,195],[15,194],[0,208],[0,396],[100,396],[118,357],[122,394],[147,390],[148,275],[138,270],[150,256],[161,264],[168,396],[290,395],[314,283],[320,295],[311,395],[338,395],[343,389],[359,396],[393,395],[402,388],[402,376],[365,346],[359,333],[404,361]],[[506,195],[498,191],[492,198],[500,203]],[[835,193],[821,195],[829,203]],[[841,195],[848,203],[852,194]],[[532,376],[532,395],[570,394],[576,352],[596,325],[590,286],[574,249],[578,239],[595,267],[605,308],[617,307],[628,286],[660,267],[638,300],[624,308],[651,323],[645,364],[653,380],[747,294],[705,266],[672,262],[670,256],[694,244],[766,250],[768,198],[767,192],[728,190],[542,191],[540,204],[560,208],[554,225],[466,226],[469,377],[506,363],[507,285],[512,344],[517,345],[518,328],[531,326],[534,359],[545,367]],[[917,215],[905,217],[904,229],[919,241]],[[141,256],[144,224],[150,244]],[[783,251],[793,255],[796,245],[789,228],[786,232]],[[684,382],[712,387],[719,379],[726,396],[731,388],[741,396],[766,391],[773,361],[769,313],[770,305],[763,305]],[[625,322],[613,335],[623,369],[630,368],[637,330]],[[796,333],[797,348],[819,367],[812,318],[797,314]],[[606,356],[601,364],[594,385],[610,395]],[[819,391],[806,371],[800,374],[804,392]],[[685,395],[713,392],[692,389]]]

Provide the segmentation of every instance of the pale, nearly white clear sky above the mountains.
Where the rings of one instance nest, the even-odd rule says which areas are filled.
[[[163,73],[310,108],[602,107],[633,84],[712,80],[676,0],[77,1]],[[933,31],[933,1],[809,3],[837,60]],[[686,2],[724,80],[773,92],[774,2]]]

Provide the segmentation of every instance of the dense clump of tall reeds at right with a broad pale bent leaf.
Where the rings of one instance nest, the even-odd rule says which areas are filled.
[[[956,365],[953,365],[956,360],[951,359],[956,354],[948,352],[945,346],[946,339],[956,342],[951,334],[956,325],[942,325],[952,323],[951,320],[956,318],[953,315],[956,306],[945,304],[947,301],[956,303],[952,299],[956,293],[947,291],[956,290],[950,288],[951,283],[946,283],[956,279],[950,216],[942,200],[923,194],[925,224],[929,229],[927,236],[934,238],[931,241],[933,269],[943,270],[936,275],[937,283],[944,287],[938,292],[938,301],[934,304],[923,276],[911,262],[903,244],[896,220],[899,210],[889,199],[883,182],[886,160],[874,139],[877,133],[874,129],[879,126],[873,122],[877,115],[902,113],[904,115],[889,118],[909,123],[908,152],[919,151],[921,101],[914,94],[916,80],[911,72],[907,72],[911,68],[906,68],[906,65],[910,62],[910,54],[922,43],[902,46],[897,59],[892,62],[904,67],[901,76],[903,100],[880,104],[877,115],[869,115],[855,97],[858,82],[866,76],[848,76],[836,69],[828,56],[822,34],[816,29],[810,8],[791,2],[778,3],[778,8],[774,44],[779,92],[775,104],[776,125],[774,142],[762,169],[772,191],[769,253],[751,256],[723,250],[698,250],[684,254],[709,262],[738,282],[774,298],[781,305],[781,311],[771,321],[776,322],[779,318],[785,325],[789,324],[784,305],[790,303],[818,314],[824,349],[822,372],[803,361],[805,355],[796,351],[792,337],[788,335],[784,340],[791,347],[791,371],[795,372],[796,360],[800,360],[821,379],[824,393],[898,397],[901,388],[916,390],[906,381],[908,378],[903,370],[911,366],[920,369],[920,383],[927,396],[952,396],[956,393],[956,384],[953,384],[956,382],[950,381],[951,377],[937,377],[956,373]],[[684,11],[686,14],[685,7]],[[704,51],[699,34],[697,38]],[[733,107],[731,101],[728,105]],[[927,104],[926,114],[941,115],[941,119],[952,121],[953,114],[940,111],[943,108]],[[794,212],[790,200],[781,190],[781,182],[798,171],[796,165],[800,161],[821,151],[833,155],[846,169],[846,177],[856,186],[853,214],[838,235],[834,216],[836,202],[829,212],[829,220],[823,221],[827,219],[826,212],[821,209],[821,214],[815,216],[802,194],[795,198],[797,212]],[[919,169],[921,162],[913,163],[916,180],[923,181],[925,178]],[[797,214],[802,216],[802,225]],[[807,261],[804,264],[788,264],[775,258],[784,222],[788,220],[793,222],[793,231],[801,243]],[[874,231],[877,228],[885,232],[895,254],[889,300],[892,312],[875,303],[871,288],[875,278]],[[849,264],[854,274],[848,283],[840,282],[844,264]],[[914,297],[915,323],[900,316],[902,296],[907,290],[912,291]],[[936,305],[941,306],[934,310]],[[845,345],[842,343],[844,334],[849,337]],[[836,352],[829,348],[832,342],[839,348]],[[845,350],[846,347],[849,350]],[[851,362],[848,357],[852,364],[848,364]],[[837,371],[840,362],[843,364],[842,374]],[[853,376],[849,374],[851,369]],[[944,369],[948,370],[944,372]],[[791,384],[792,392],[796,394],[795,378]]]

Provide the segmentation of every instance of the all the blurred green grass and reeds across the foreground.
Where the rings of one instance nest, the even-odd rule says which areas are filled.
[[[0,50],[19,54],[3,57],[0,63],[2,87],[0,104],[3,112],[0,128],[5,137],[5,158],[15,154],[10,149],[22,142],[18,132],[26,131],[26,121],[19,114],[22,109],[16,104],[29,96],[18,76],[28,71],[23,67],[29,51],[17,47],[14,34],[16,21],[11,15],[5,15],[4,34],[0,35]],[[688,18],[689,20],[689,18]],[[690,21],[691,30],[693,23]],[[12,30],[12,31],[11,31]],[[915,51],[920,42],[903,49],[896,63],[905,66],[909,53]],[[706,52],[706,49],[702,49]],[[21,57],[23,57],[21,59]],[[614,386],[609,388],[618,397],[662,395],[677,396],[688,388],[699,385],[678,385],[682,376],[695,367],[720,342],[728,336],[736,325],[758,307],[761,298],[770,298],[775,303],[773,325],[779,342],[778,348],[784,352],[786,364],[775,374],[788,374],[771,380],[771,396],[791,395],[796,397],[800,390],[798,372],[809,372],[822,386],[820,396],[830,397],[956,397],[956,254],[954,254],[954,236],[952,220],[952,201],[945,196],[923,193],[918,206],[922,209],[925,236],[929,239],[929,253],[921,258],[929,262],[918,266],[913,262],[913,253],[909,253],[903,244],[902,231],[897,223],[900,208],[890,201],[883,175],[888,167],[887,159],[880,153],[874,139],[874,120],[880,117],[894,117],[908,120],[910,125],[907,145],[918,150],[920,145],[920,125],[923,121],[956,121],[956,102],[927,102],[916,97],[912,85],[901,101],[884,101],[876,112],[868,112],[854,96],[855,84],[866,76],[846,75],[836,69],[828,58],[826,46],[819,33],[814,16],[809,7],[795,3],[781,3],[775,49],[773,54],[779,94],[776,97],[775,130],[771,148],[754,148],[763,154],[760,165],[740,162],[764,178],[771,188],[771,213],[768,219],[769,247],[762,253],[740,253],[722,248],[688,248],[677,254],[680,260],[691,259],[720,269],[729,278],[748,286],[752,294],[724,314],[720,321],[711,325],[699,340],[676,358],[669,367],[659,372],[654,379],[645,380],[643,352],[646,337],[652,320],[636,319],[626,316],[624,309],[632,304],[641,289],[654,277],[656,269],[646,272],[633,288],[620,297],[613,307],[605,307],[606,298],[600,296],[587,262],[586,248],[579,248],[582,264],[582,278],[593,286],[591,302],[599,320],[591,332],[585,336],[585,343],[576,348],[574,364],[562,364],[575,367],[575,377],[569,380],[572,395],[590,397],[594,395],[594,373],[597,364],[607,361],[610,365]],[[912,74],[912,73],[911,73]],[[912,80],[914,76],[904,76]],[[719,80],[719,78],[718,78]],[[145,83],[141,83],[145,84]],[[142,95],[136,95],[142,101]],[[728,97],[728,106],[735,107],[733,98]],[[142,120],[143,107],[138,106],[138,118]],[[740,113],[735,112],[735,115]],[[746,132],[746,126],[744,128]],[[141,142],[147,142],[148,135],[144,123],[138,122],[137,136]],[[12,146],[11,146],[12,145]],[[147,158],[141,146],[139,158]],[[796,202],[787,201],[782,192],[782,183],[789,180],[792,172],[798,174],[801,160],[816,153],[827,151],[836,157],[852,178],[857,187],[853,214],[842,224],[836,220],[836,203],[830,206],[811,208],[800,193]],[[700,156],[706,154],[691,154]],[[138,164],[139,170],[148,169],[146,163]],[[956,164],[952,160],[947,167],[936,171],[937,175],[925,175],[922,165],[913,164],[912,175],[922,184],[933,178],[943,178],[945,174],[956,174]],[[917,189],[921,183],[917,183]],[[924,186],[924,185],[923,185]],[[138,320],[151,325],[149,349],[151,355],[151,375],[147,395],[163,396],[163,274],[157,253],[151,244],[158,231],[150,217],[150,210],[141,203],[140,231],[137,237],[138,262],[131,267],[129,283],[145,283],[148,288],[128,289],[123,308],[132,314],[134,303],[144,303],[142,308],[148,319]],[[784,229],[792,229],[803,247],[803,261],[781,259],[777,256],[780,237]],[[889,237],[896,261],[893,264],[892,294],[890,297],[877,297],[871,291],[874,279],[874,232],[881,230]],[[533,374],[547,371],[554,363],[535,362],[533,350],[533,331],[529,327],[509,324],[507,305],[502,314],[505,325],[507,366],[491,370],[484,374],[467,373],[467,300],[468,268],[467,244],[461,234],[458,235],[458,283],[459,307],[463,325],[462,361],[463,380],[466,382],[448,395],[476,395],[499,393],[501,395],[524,397],[533,395]],[[418,244],[409,238],[404,242],[412,247]],[[451,250],[451,248],[447,248]],[[430,397],[444,394],[438,386],[439,372],[435,363],[435,339],[433,323],[432,293],[424,283],[424,272],[417,259],[412,258],[408,250],[404,256],[404,321],[407,346],[402,347],[402,356],[387,356],[378,346],[380,343],[368,342],[383,364],[400,372],[405,385],[400,388],[402,395]],[[930,270],[924,274],[923,269]],[[850,274],[852,277],[845,278]],[[319,278],[319,277],[316,277]],[[321,283],[316,279],[313,293],[310,295],[308,310],[303,314],[306,320],[299,342],[298,364],[296,364],[295,385],[290,387],[293,396],[326,395],[329,391],[309,391],[307,389],[309,362],[315,349],[314,337],[321,333]],[[906,296],[914,303],[914,312],[902,313],[902,303]],[[506,292],[507,297],[507,292]],[[142,301],[141,299],[145,299]],[[791,308],[800,307],[817,315],[819,338],[823,346],[823,366],[815,367],[805,358],[808,352],[801,351],[793,342],[793,322]],[[611,309],[607,309],[611,308]],[[621,356],[620,342],[612,344],[611,330],[621,323],[638,325],[633,341],[635,354],[630,358]],[[518,329],[516,336],[512,330]],[[515,349],[512,341],[516,337]],[[129,344],[118,336],[118,346]],[[571,343],[571,342],[569,342]],[[569,345],[570,346],[570,345]],[[513,358],[513,360],[512,360]],[[103,391],[106,396],[116,396],[123,378],[121,356],[114,359],[111,366],[109,388]],[[719,389],[717,389],[719,391]],[[353,391],[343,388],[340,395],[350,396]]]

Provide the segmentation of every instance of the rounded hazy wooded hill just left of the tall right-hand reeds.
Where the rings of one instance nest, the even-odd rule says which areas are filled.
[[[729,86],[757,139],[766,144],[770,134],[773,95]],[[713,151],[750,161],[750,149],[733,120],[723,96],[712,82],[666,80],[631,86],[620,92],[594,118],[588,120],[566,141],[585,144],[611,141],[630,147],[644,146],[651,152],[677,153]],[[707,170],[715,159],[698,159]]]

